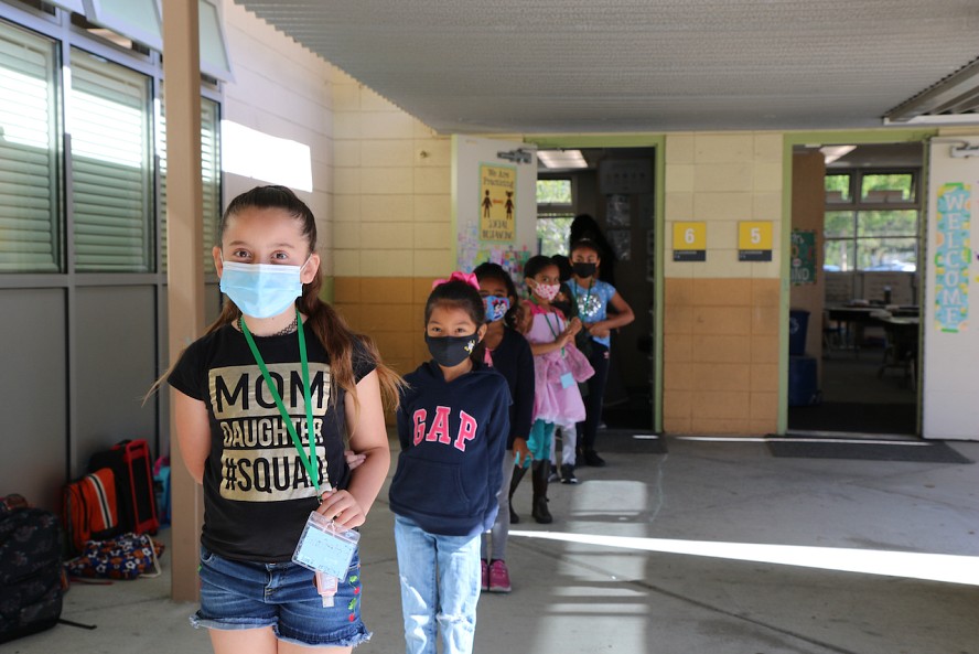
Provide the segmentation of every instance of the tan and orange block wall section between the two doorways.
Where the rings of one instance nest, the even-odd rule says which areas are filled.
[[[782,135],[666,138],[663,425],[762,435],[778,421]],[[671,260],[673,223],[707,223],[707,261]],[[738,261],[739,221],[771,221],[771,262]]]

